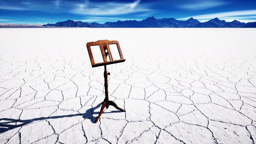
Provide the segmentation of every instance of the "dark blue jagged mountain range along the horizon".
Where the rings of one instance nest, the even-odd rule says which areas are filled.
[[[0,27],[33,27],[25,25],[0,25]],[[42,26],[34,27],[90,27],[90,28],[256,28],[256,22],[241,23],[240,21],[233,20],[226,22],[219,20],[217,17],[207,22],[201,23],[200,21],[190,18],[188,20],[176,20],[174,18],[156,19],[153,16],[145,20],[125,20],[117,22],[100,23],[87,23],[82,21],[67,20],[63,22],[45,24]]]

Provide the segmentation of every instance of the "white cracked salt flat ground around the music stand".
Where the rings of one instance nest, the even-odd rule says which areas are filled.
[[[255,143],[256,29],[0,29],[0,143]],[[92,68],[85,44],[125,62]],[[5,132],[4,132],[5,131]]]

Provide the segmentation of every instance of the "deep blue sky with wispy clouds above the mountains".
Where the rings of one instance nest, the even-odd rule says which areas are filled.
[[[0,23],[105,23],[149,16],[255,22],[256,0],[0,0]]]

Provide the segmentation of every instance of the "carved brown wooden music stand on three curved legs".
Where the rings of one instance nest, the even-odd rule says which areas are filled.
[[[118,59],[118,60],[113,59],[112,53],[111,53],[110,48],[109,48],[110,44],[116,44],[116,46],[118,48],[120,59]],[[99,63],[94,62],[91,46],[99,46],[100,47],[100,51],[102,53],[102,58],[103,58],[104,62],[99,62]],[[104,108],[108,108],[109,105],[114,106],[116,109],[118,109],[120,111],[123,111],[123,112],[125,111],[124,109],[119,108],[115,104],[114,101],[109,101],[108,100],[108,75],[110,75],[110,73],[107,72],[107,66],[106,66],[106,65],[110,65],[110,64],[114,64],[114,63],[125,62],[125,59],[124,59],[123,54],[121,52],[120,45],[119,45],[118,41],[116,41],[116,40],[112,40],[112,41],[110,41],[110,40],[98,40],[97,42],[89,42],[89,43],[86,44],[86,47],[87,47],[87,50],[88,50],[88,53],[89,53],[89,57],[90,57],[90,60],[91,60],[92,67],[94,68],[94,67],[97,67],[97,66],[104,65],[104,69],[105,69],[104,70],[105,99],[104,99],[104,101],[102,101],[101,110],[98,114],[98,117],[95,120],[95,123],[96,123],[98,121],[98,119],[100,118],[100,116],[102,115],[102,112],[103,112]],[[109,57],[109,61],[107,60],[107,56]]]

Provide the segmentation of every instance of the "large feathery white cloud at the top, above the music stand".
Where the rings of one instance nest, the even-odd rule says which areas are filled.
[[[140,5],[141,0],[125,2],[90,2],[76,3],[71,13],[83,15],[118,15],[136,12],[148,12],[150,9]]]

